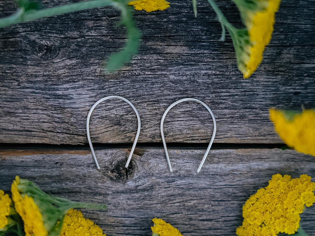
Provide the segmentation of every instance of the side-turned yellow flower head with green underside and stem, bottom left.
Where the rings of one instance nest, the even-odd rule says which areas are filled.
[[[105,205],[74,202],[46,194],[35,183],[18,176],[12,183],[11,192],[15,209],[24,222],[26,236],[59,236],[63,219],[71,208],[106,209]]]

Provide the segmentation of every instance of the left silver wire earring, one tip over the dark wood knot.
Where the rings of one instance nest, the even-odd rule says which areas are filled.
[[[136,147],[136,144],[137,144],[139,135],[140,135],[140,128],[141,128],[140,115],[139,115],[137,109],[135,108],[135,106],[134,106],[129,100],[127,100],[126,98],[120,97],[120,96],[108,96],[108,97],[105,97],[105,98],[102,98],[102,99],[98,100],[98,101],[91,107],[91,109],[90,109],[90,111],[89,111],[89,114],[88,114],[88,118],[87,118],[87,120],[86,120],[86,132],[87,132],[87,135],[88,135],[88,140],[89,140],[90,148],[91,148],[92,155],[93,155],[95,164],[96,164],[96,166],[97,166],[97,169],[100,169],[100,165],[98,164],[98,161],[97,161],[97,159],[96,159],[95,151],[94,151],[93,144],[92,144],[91,137],[90,137],[90,128],[89,128],[90,117],[91,117],[91,115],[92,115],[92,112],[93,112],[94,108],[95,108],[98,104],[100,104],[101,102],[103,102],[103,101],[105,101],[105,100],[107,100],[107,99],[110,99],[110,98],[117,98],[117,99],[123,100],[123,101],[125,101],[126,103],[128,103],[128,104],[132,107],[132,109],[135,111],[135,113],[136,113],[136,115],[137,115],[137,119],[138,119],[138,130],[137,130],[137,134],[136,134],[136,138],[135,138],[134,144],[132,145],[132,148],[131,148],[131,151],[130,151],[128,160],[127,160],[126,165],[125,165],[126,168],[129,166],[129,163],[130,163],[132,154],[134,153],[134,150],[135,150],[135,147]]]

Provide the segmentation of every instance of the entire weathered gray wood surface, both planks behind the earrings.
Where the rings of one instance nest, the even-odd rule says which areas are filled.
[[[43,7],[69,2],[43,1]],[[240,26],[232,2],[217,2]],[[0,29],[0,143],[40,147],[0,150],[0,189],[9,192],[20,175],[54,195],[106,203],[108,211],[83,213],[109,236],[148,236],[152,217],[162,217],[185,236],[232,236],[242,222],[242,204],[272,174],[315,176],[314,157],[293,150],[211,150],[197,174],[203,149],[173,145],[170,173],[163,149],[149,147],[156,144],[138,146],[128,170],[129,149],[97,149],[100,171],[86,147],[41,146],[87,143],[88,111],[108,95],[136,106],[139,142],[150,143],[161,142],[163,112],[180,98],[209,104],[217,119],[216,143],[281,143],[268,119],[269,107],[315,107],[314,1],[282,1],[264,60],[247,80],[237,69],[231,38],[218,41],[221,26],[207,1],[198,1],[197,19],[191,0],[170,3],[163,12],[135,12],[142,31],[139,54],[110,75],[101,71],[103,62],[126,39],[112,8]],[[15,9],[13,1],[0,0],[0,17]],[[209,142],[212,126],[200,104],[184,103],[169,112],[164,132],[167,142],[198,146]],[[113,100],[95,109],[94,142],[130,143],[135,133],[136,117],[127,104]],[[301,216],[305,231],[315,235],[314,206]]]

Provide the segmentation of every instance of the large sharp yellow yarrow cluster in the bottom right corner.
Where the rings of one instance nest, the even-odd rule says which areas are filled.
[[[301,175],[272,176],[265,188],[249,197],[243,205],[243,224],[236,229],[238,236],[275,236],[293,234],[300,225],[300,214],[305,205],[315,202],[315,183],[311,177]]]

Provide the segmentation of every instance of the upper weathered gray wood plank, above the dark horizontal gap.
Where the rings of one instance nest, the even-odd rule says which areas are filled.
[[[69,1],[44,1],[43,7]],[[234,25],[230,1],[217,1]],[[0,0],[0,17],[14,13]],[[217,143],[281,142],[268,108],[315,106],[315,2],[282,1],[264,60],[250,79],[237,69],[231,38],[219,42],[221,26],[207,1],[171,1],[165,11],[135,12],[142,31],[139,54],[111,75],[101,71],[123,47],[112,8],[86,10],[0,29],[0,142],[87,143],[85,121],[100,98],[120,95],[141,115],[139,142],[161,142],[159,124],[174,101],[193,97],[209,104],[217,119]],[[166,118],[168,142],[209,142],[212,121],[197,104],[181,104]],[[130,143],[135,115],[123,102],[96,108],[91,135],[97,143]]]

